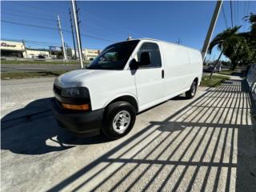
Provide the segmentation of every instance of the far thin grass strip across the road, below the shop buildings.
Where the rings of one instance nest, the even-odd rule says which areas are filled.
[[[89,64],[90,61],[83,61],[84,65]],[[54,60],[45,60],[45,61],[40,61],[40,60],[1,60],[1,64],[80,64],[79,61],[54,61]]]

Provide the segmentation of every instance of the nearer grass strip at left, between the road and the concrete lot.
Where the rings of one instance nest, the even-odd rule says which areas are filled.
[[[60,74],[64,74],[68,70],[58,71],[40,71],[40,72],[6,72],[1,73],[2,79],[10,78],[39,78],[39,77],[57,77]]]

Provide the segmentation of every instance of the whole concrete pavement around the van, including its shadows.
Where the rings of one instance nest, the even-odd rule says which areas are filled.
[[[2,191],[255,191],[255,122],[242,79],[146,110],[112,142],[58,127],[53,80],[2,81]]]

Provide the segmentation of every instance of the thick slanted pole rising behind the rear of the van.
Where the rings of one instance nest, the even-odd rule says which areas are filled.
[[[209,26],[208,32],[206,34],[206,39],[205,39],[204,45],[202,46],[202,53],[201,53],[202,54],[202,61],[204,61],[205,58],[206,58],[210,38],[211,38],[211,36],[214,32],[214,27],[215,27],[215,24],[217,22],[218,14],[219,14],[219,11],[221,10],[221,7],[222,7],[222,0],[218,0],[217,4],[215,6],[214,14],[213,14],[213,16],[211,18],[211,21],[210,21],[210,26]]]

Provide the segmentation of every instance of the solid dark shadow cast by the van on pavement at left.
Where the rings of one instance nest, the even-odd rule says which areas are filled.
[[[30,102],[1,119],[1,150],[15,154],[46,154],[76,145],[107,142],[100,135],[78,138],[58,126],[50,110],[51,99]]]

